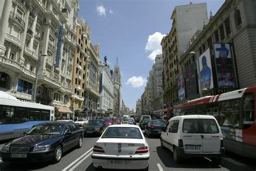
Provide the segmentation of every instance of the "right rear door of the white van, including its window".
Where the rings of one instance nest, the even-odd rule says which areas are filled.
[[[221,132],[215,119],[200,116],[202,125],[203,153],[220,152]]]

